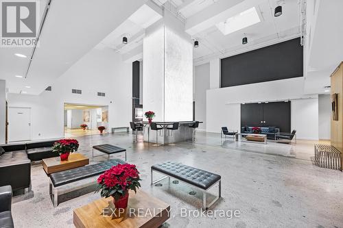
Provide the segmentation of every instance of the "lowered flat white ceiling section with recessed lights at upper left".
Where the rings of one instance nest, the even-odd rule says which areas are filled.
[[[27,78],[14,77],[25,75],[28,64],[28,58],[18,58],[14,53],[29,56],[32,49],[2,48],[0,79],[6,80],[9,92],[25,90],[27,94],[40,94],[146,1],[102,0],[95,4],[84,0],[52,0]]]

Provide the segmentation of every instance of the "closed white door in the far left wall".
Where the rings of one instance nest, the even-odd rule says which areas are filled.
[[[31,108],[8,108],[8,141],[31,140]]]

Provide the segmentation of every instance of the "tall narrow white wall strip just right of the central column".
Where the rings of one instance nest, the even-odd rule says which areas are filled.
[[[210,88],[210,64],[195,67],[194,101],[196,101],[196,121],[203,121],[199,129],[206,129],[206,90]]]

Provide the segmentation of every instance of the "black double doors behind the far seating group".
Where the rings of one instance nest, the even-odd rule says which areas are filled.
[[[279,127],[291,132],[291,101],[241,105],[241,127]]]

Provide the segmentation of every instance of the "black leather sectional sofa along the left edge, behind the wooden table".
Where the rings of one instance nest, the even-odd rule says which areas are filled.
[[[0,155],[0,186],[12,186],[14,192],[29,188],[31,162],[58,156],[58,153],[52,152],[54,142],[56,140],[0,145],[5,151]]]

